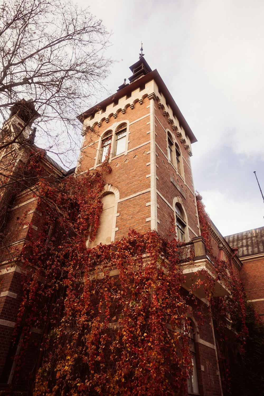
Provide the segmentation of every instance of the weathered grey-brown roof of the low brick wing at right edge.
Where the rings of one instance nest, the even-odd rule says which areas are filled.
[[[224,238],[231,247],[238,247],[238,257],[264,253],[264,227],[238,232]]]

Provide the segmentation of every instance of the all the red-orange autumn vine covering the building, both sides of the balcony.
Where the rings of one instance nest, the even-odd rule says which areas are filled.
[[[107,157],[93,173],[60,180],[41,177],[44,169],[36,161],[28,162],[27,171],[38,169],[42,224],[38,234],[28,224],[22,251],[15,375],[31,329],[37,328],[43,331],[31,379],[35,396],[182,395],[192,370],[189,317],[195,311],[200,325],[204,319],[195,290],[182,289],[181,264],[192,265],[192,249],[175,238],[134,230],[120,241],[87,249],[99,227],[104,174],[111,171]],[[226,341],[232,334],[237,344],[245,342],[245,295],[230,265],[213,256],[210,220],[200,201],[198,214],[213,276],[195,273],[193,287],[203,287],[211,306],[228,394]],[[231,296],[214,297],[217,280],[228,285]]]

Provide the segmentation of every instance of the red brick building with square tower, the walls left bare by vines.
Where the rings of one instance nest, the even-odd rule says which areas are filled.
[[[83,124],[83,143],[75,168],[76,177],[96,170],[106,155],[109,155],[112,167],[112,173],[106,175],[105,179],[99,231],[95,241],[87,240],[87,247],[120,240],[127,235],[129,229],[140,233],[156,230],[161,236],[169,237],[174,223],[179,240],[194,249],[192,263],[182,265],[186,276],[186,282],[182,285],[184,293],[184,289],[188,291],[192,286],[193,274],[197,270],[203,269],[214,277],[214,264],[209,259],[201,238],[192,179],[191,145],[196,142],[196,137],[157,70],[152,71],[142,56],[130,70],[132,75],[129,84],[124,82],[114,95],[78,116]],[[3,131],[11,134],[22,128],[25,131],[23,139],[28,143],[22,148],[19,144],[15,147],[19,155],[15,168],[7,175],[9,178],[17,171],[17,167],[25,165],[29,153],[35,149],[33,132],[27,126],[27,121],[16,112],[11,114],[3,128]],[[10,152],[5,151],[2,158],[8,158],[9,155]],[[72,173],[64,171],[46,153],[41,161],[49,177],[55,175],[63,178]],[[21,190],[13,185],[15,192],[11,195],[9,192],[5,198],[7,210],[3,222],[9,239],[2,250],[0,267],[0,383],[3,392],[6,392],[8,384],[12,382],[11,356],[18,353],[19,348],[18,341],[13,346],[11,339],[21,294],[23,263],[20,261],[20,252],[27,242],[27,224],[32,225],[33,232],[36,233],[44,225],[42,213],[36,207],[32,180],[34,178],[30,176],[30,186],[27,189]],[[26,218],[27,224],[24,221],[19,225],[17,220],[21,218]],[[230,270],[239,276],[241,262],[245,260],[239,260],[236,251],[228,244],[233,245],[233,240],[232,243],[230,239],[225,240],[213,224],[211,237],[214,255],[230,263]],[[263,253],[263,250],[258,253]],[[238,256],[241,256],[240,253]],[[193,328],[191,347],[196,358],[193,360],[193,374],[188,381],[188,393],[220,396],[223,393],[213,323],[203,289],[197,288],[194,293],[201,309],[207,312],[207,320],[198,329],[195,314],[190,318]],[[214,296],[228,293],[228,286],[220,279],[215,279]],[[254,300],[255,297],[254,294],[250,298]],[[32,339],[40,339],[42,331],[42,328],[32,328]],[[38,355],[33,344],[30,351],[20,374],[24,388],[27,388],[28,383],[23,383],[23,378],[32,372]]]

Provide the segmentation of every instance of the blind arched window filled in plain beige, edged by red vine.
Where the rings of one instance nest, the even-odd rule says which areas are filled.
[[[116,196],[113,192],[107,192],[103,196],[103,211],[101,214],[100,225],[95,240],[91,242],[89,247],[94,247],[100,243],[109,244],[111,242],[115,201]]]

